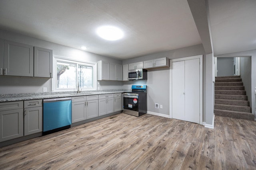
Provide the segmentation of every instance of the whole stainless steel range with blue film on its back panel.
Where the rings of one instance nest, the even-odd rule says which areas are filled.
[[[147,113],[147,85],[132,85],[132,92],[124,92],[124,113],[137,117]]]

